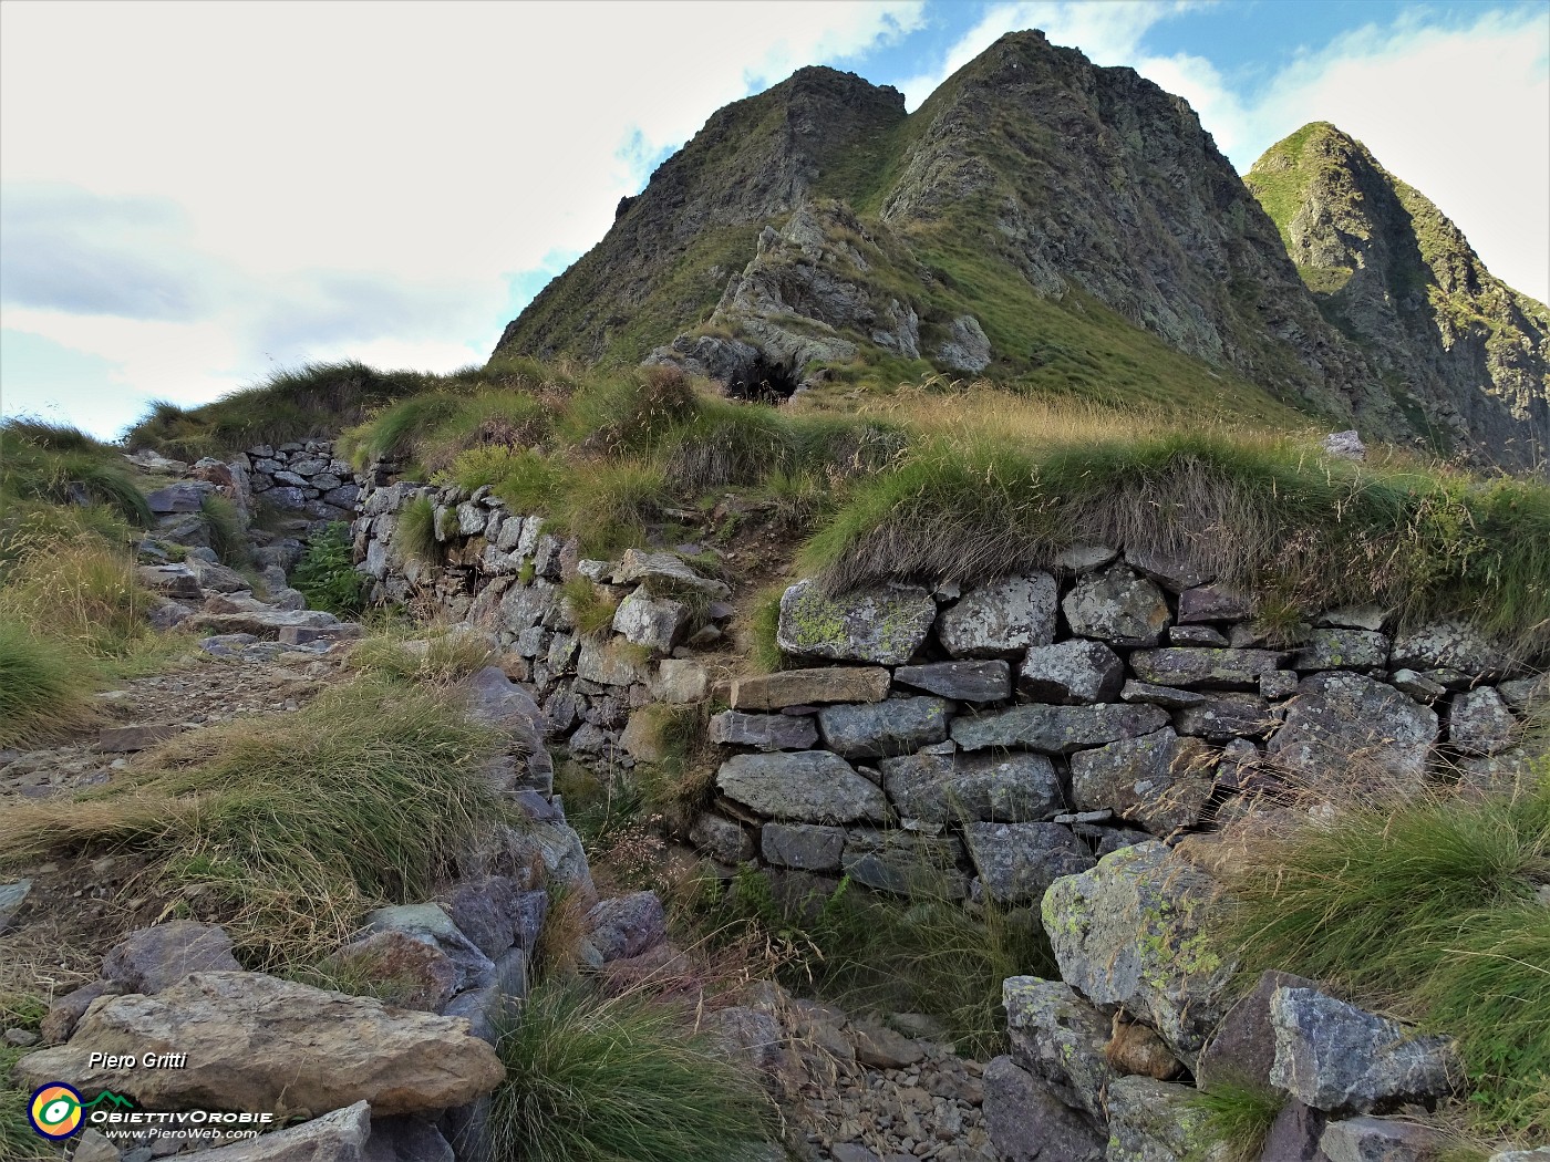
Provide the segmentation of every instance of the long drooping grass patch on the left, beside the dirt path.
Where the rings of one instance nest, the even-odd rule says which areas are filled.
[[[313,964],[370,908],[426,899],[496,823],[494,731],[432,686],[356,679],[293,714],[180,736],[112,787],[0,820],[5,861],[122,846],[192,892],[245,964]]]

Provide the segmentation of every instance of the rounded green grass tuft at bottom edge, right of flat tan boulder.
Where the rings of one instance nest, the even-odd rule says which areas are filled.
[[[688,1015],[584,982],[539,984],[498,1023],[494,1157],[736,1162],[773,1134],[760,1081]]]

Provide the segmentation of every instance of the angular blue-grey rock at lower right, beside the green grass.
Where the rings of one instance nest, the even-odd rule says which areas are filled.
[[[1271,1085],[1327,1114],[1364,1114],[1451,1094],[1459,1061],[1443,1037],[1403,1026],[1316,988],[1277,988]]]

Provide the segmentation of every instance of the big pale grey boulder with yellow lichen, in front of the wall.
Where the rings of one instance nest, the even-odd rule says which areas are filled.
[[[1203,927],[1217,891],[1161,843],[1141,843],[1056,880],[1042,905],[1062,979],[1150,1024],[1190,1067],[1226,1009],[1232,975]]]

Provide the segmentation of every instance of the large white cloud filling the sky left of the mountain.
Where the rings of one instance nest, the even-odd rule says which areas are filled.
[[[482,359],[513,282],[715,108],[921,8],[8,2],[0,169],[70,197],[51,232],[6,222],[6,328],[180,400],[270,359]],[[107,212],[146,203],[175,214]]]

